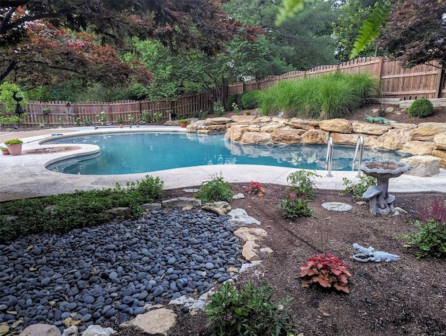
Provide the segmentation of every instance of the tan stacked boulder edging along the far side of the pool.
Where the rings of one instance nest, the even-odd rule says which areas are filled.
[[[446,123],[367,123],[347,119],[307,121],[270,116],[212,118],[187,125],[187,132],[226,132],[225,139],[246,144],[327,144],[364,146],[412,155],[432,155],[446,167]]]

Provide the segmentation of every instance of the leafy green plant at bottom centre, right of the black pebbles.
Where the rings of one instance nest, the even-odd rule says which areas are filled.
[[[293,298],[272,303],[272,293],[267,284],[257,288],[248,282],[238,291],[226,282],[220,291],[210,296],[206,306],[210,335],[281,336],[295,333],[291,316],[283,309]]]

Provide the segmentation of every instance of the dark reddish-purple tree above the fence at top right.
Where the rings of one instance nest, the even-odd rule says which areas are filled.
[[[445,67],[446,1],[397,1],[378,45],[406,67],[430,61]]]

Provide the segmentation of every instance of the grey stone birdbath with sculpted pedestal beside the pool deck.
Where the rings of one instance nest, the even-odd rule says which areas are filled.
[[[389,179],[401,176],[404,172],[410,169],[407,162],[396,162],[391,160],[383,161],[366,161],[360,166],[367,176],[376,178],[377,185],[371,185],[364,194],[363,199],[368,199],[370,204],[370,213],[376,215],[387,215],[392,213],[399,215],[395,210],[393,202],[394,195],[388,194]]]

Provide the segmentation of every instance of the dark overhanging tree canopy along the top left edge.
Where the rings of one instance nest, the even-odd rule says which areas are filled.
[[[200,49],[206,54],[220,52],[235,33],[254,32],[226,17],[217,0],[2,0],[1,54],[10,55],[0,59],[0,80],[17,70],[28,79],[38,73],[40,68],[20,68],[24,58],[13,58],[17,49],[33,43],[29,26],[36,22],[91,33],[104,46],[122,48],[129,36],[138,36],[156,38],[173,50]],[[33,54],[37,56],[38,50]]]

